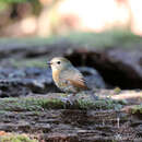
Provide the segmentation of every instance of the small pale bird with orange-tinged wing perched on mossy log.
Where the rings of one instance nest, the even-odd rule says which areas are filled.
[[[79,92],[88,90],[83,74],[67,58],[55,57],[47,63],[51,67],[55,84],[62,92],[75,96]]]

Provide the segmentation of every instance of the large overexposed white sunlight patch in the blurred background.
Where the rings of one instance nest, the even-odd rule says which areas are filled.
[[[61,15],[76,15],[80,20],[78,26],[83,31],[102,32],[113,26],[127,25],[129,21],[127,7],[116,0],[67,0],[60,3],[58,11]]]

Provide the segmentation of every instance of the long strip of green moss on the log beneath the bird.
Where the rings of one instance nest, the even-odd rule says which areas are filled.
[[[4,111],[38,111],[43,109],[120,109],[123,103],[113,100],[110,98],[98,99],[92,102],[91,99],[79,98],[70,105],[64,103],[60,98],[45,98],[45,97],[21,97],[21,98],[1,98],[0,99],[0,113]]]

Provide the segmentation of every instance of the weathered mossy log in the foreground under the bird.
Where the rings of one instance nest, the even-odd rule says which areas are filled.
[[[142,141],[142,92],[97,90],[97,100],[62,93],[0,98],[1,142]]]

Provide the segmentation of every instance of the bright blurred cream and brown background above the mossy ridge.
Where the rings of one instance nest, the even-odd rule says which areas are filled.
[[[141,0],[0,0],[0,36],[100,33],[121,27],[142,35]]]

